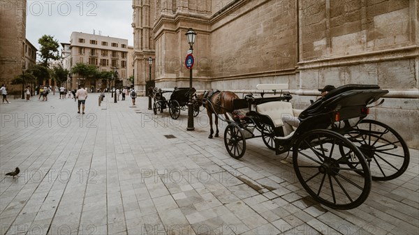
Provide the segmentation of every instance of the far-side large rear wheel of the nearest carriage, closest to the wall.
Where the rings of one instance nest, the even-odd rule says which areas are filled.
[[[404,139],[390,126],[363,119],[345,134],[364,154],[374,181],[389,181],[401,176],[409,166],[410,153]],[[342,153],[353,156],[351,151]],[[350,167],[357,167],[355,164]]]

